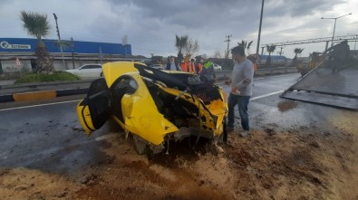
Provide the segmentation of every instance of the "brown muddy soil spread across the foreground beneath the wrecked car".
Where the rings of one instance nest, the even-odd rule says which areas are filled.
[[[252,130],[228,136],[225,153],[195,139],[153,157],[120,132],[104,162],[77,176],[0,170],[0,199],[358,199],[356,129]]]

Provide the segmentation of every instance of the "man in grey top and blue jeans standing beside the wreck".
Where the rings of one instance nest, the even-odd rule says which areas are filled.
[[[235,106],[238,107],[238,112],[241,118],[241,126],[243,131],[240,132],[241,137],[247,137],[249,127],[247,106],[248,101],[252,95],[254,85],[254,66],[246,55],[245,49],[242,46],[234,47],[231,50],[232,58],[234,59],[234,68],[231,75],[231,80],[225,81],[227,85],[231,85],[230,94],[227,99],[228,107],[228,121],[227,132],[234,130],[235,122]]]

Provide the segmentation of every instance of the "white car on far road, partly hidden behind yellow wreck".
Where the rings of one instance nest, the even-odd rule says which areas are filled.
[[[103,76],[101,64],[84,64],[78,69],[66,70],[81,78],[99,78]]]

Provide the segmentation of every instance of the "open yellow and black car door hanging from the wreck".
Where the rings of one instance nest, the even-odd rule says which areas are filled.
[[[100,129],[111,117],[111,92],[103,78],[92,81],[87,97],[78,103],[76,110],[82,128],[88,135]]]

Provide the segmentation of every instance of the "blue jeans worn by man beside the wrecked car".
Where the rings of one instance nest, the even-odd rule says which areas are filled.
[[[238,107],[238,112],[240,113],[241,118],[241,126],[244,130],[249,130],[250,127],[248,125],[248,114],[247,114],[247,106],[248,101],[250,100],[250,96],[238,96],[230,93],[228,95],[227,100],[227,107],[228,107],[228,114],[227,114],[227,126],[230,128],[234,128],[235,122],[235,106]]]

